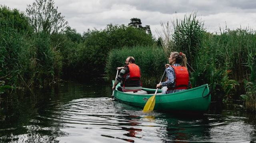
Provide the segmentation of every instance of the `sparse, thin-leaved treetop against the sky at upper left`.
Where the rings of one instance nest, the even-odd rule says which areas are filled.
[[[64,31],[68,25],[57,9],[58,7],[54,7],[53,0],[36,0],[32,5],[28,5],[26,13],[36,32],[55,33]]]

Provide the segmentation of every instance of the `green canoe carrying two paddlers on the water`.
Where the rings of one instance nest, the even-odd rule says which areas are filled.
[[[112,81],[114,84],[114,80]],[[117,87],[120,86],[118,84]],[[114,98],[120,102],[133,106],[144,107],[148,98],[154,95],[156,89],[142,88],[138,92],[114,91]],[[156,104],[154,110],[164,111],[187,111],[187,112],[206,112],[210,106],[211,95],[208,84],[191,88],[172,94],[162,94],[158,90],[156,94]]]

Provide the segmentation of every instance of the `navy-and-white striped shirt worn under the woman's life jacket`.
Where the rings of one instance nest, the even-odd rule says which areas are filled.
[[[180,66],[180,64],[175,63],[172,66]],[[176,74],[174,72],[174,69],[172,67],[168,67],[165,69],[166,71],[166,77],[167,80],[165,82],[162,82],[162,86],[167,86],[167,88],[174,88],[175,87],[175,80],[176,80]],[[166,92],[164,94],[170,94],[170,93],[174,93],[174,92],[180,92],[183,91],[185,89],[171,89],[171,90],[166,90]]]

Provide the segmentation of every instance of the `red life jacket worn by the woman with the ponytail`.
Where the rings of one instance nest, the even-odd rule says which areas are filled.
[[[188,69],[182,66],[171,66],[174,69],[176,79],[175,79],[175,87],[168,88],[171,89],[188,89],[189,75]]]

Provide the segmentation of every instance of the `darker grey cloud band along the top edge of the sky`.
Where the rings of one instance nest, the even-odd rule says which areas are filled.
[[[202,12],[204,15],[218,14],[229,10],[256,9],[255,0],[100,0],[106,9],[113,4],[128,4],[137,10],[161,12],[163,14]]]

